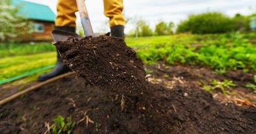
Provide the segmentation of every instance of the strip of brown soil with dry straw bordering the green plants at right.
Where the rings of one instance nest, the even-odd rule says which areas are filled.
[[[228,71],[221,75],[215,73],[213,69],[206,67],[184,64],[167,66],[163,63],[159,63],[156,66],[145,65],[145,68],[152,70],[150,76],[146,76],[148,80],[151,80],[150,82],[169,88],[182,84],[193,86],[196,89],[203,89],[203,85],[209,85],[212,80],[232,80],[236,86],[225,88],[226,92],[228,92],[227,95],[223,95],[221,90],[211,92],[214,98],[221,101],[221,103],[234,103],[238,106],[247,105],[238,100],[249,100],[254,107],[256,106],[256,95],[253,93],[253,89],[245,87],[248,83],[254,83],[253,75],[255,73],[244,73],[243,71],[236,70]]]

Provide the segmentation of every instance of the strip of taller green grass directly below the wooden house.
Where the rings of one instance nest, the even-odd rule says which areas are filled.
[[[42,52],[53,52],[55,46],[52,42],[2,42],[0,43],[0,58],[7,56],[22,56],[28,54],[38,54]]]

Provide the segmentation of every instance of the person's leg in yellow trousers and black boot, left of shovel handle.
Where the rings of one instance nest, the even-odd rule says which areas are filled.
[[[77,11],[77,5],[75,0],[58,0],[57,4],[57,16],[55,20],[54,29],[60,31],[68,31],[75,33],[75,12]],[[71,71],[65,63],[62,62],[60,54],[57,51],[57,62],[53,71],[40,75],[37,80],[45,81],[54,76],[62,75]]]

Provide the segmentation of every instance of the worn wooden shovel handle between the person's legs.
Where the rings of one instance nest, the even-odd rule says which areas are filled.
[[[83,26],[83,35],[85,37],[91,35],[95,37],[95,34],[93,33],[93,27],[91,26],[91,22],[88,16],[87,9],[85,7],[85,1],[84,0],[76,0],[77,8],[80,14],[81,18],[81,24]]]

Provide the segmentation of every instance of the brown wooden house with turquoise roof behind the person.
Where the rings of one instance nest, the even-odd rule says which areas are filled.
[[[47,5],[29,1],[12,0],[18,6],[18,14],[32,21],[32,33],[16,38],[20,41],[53,41],[51,32],[54,29],[55,14]]]

